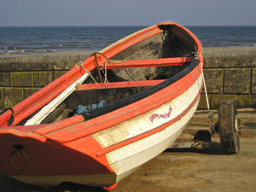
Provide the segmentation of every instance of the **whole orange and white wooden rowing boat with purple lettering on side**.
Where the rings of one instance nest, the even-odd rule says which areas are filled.
[[[201,96],[201,54],[192,32],[166,21],[91,55],[0,116],[0,172],[113,189],[182,133]]]

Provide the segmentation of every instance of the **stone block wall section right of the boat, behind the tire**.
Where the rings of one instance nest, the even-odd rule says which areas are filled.
[[[256,48],[208,48],[204,51],[204,73],[211,108],[232,99],[237,108],[256,107]],[[199,108],[207,108],[205,94]]]

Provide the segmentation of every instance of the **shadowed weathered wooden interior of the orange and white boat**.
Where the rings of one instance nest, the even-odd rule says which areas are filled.
[[[132,45],[112,58],[108,58],[108,62],[114,65],[125,61],[193,57],[192,54],[195,52],[195,43],[191,39],[183,38],[178,32],[164,30],[151,38]],[[160,84],[165,79],[170,79],[173,75],[181,72],[183,68],[189,66],[190,63],[191,61],[182,61],[173,66],[163,67],[101,68],[99,71],[95,68],[84,83],[67,96],[41,124],[67,119],[81,113],[79,112],[81,108],[85,112],[136,95],[142,90]],[[33,114],[21,121],[19,125],[24,125],[26,120],[32,116]]]

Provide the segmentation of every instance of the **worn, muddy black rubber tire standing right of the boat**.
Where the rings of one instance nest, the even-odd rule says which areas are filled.
[[[218,110],[218,131],[224,154],[236,154],[240,149],[236,103],[225,100]]]

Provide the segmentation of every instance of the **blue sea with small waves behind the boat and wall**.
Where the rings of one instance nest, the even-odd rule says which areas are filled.
[[[0,26],[0,55],[100,50],[146,26]],[[203,47],[256,46],[256,26],[186,26]]]

